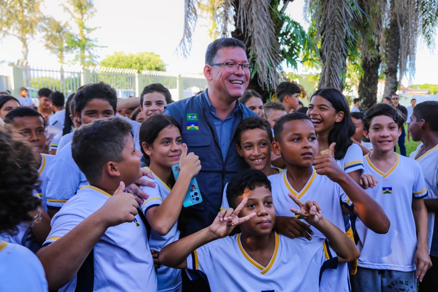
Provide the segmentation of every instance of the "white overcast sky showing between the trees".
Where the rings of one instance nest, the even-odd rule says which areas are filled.
[[[125,53],[152,52],[158,54],[166,64],[166,70],[172,73],[201,73],[204,67],[204,54],[211,42],[208,37],[208,22],[201,20],[193,34],[191,56],[184,59],[175,54],[183,33],[183,0],[95,0],[97,13],[88,22],[88,26],[100,27],[91,37],[98,39],[100,59],[116,51]],[[69,20],[59,7],[60,0],[45,0],[43,12],[57,20]],[[308,25],[303,20],[303,0],[289,4],[287,11],[292,18]],[[71,22],[70,22],[71,23]],[[72,23],[71,23],[72,24]],[[438,31],[438,30],[437,30]],[[46,51],[40,36],[29,45],[29,62],[39,66],[57,66],[54,55]],[[0,61],[21,59],[21,44],[15,37],[6,37],[0,41]],[[415,84],[437,84],[438,55],[419,42],[417,51],[417,73]],[[286,71],[291,71],[286,69]],[[299,73],[299,72],[298,72]],[[407,85],[407,81],[403,82]]]

